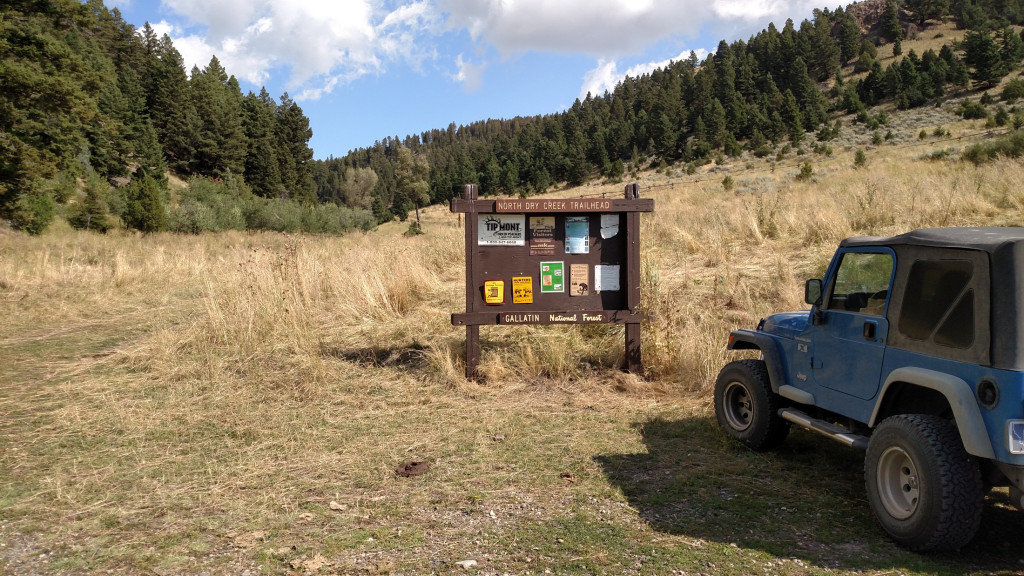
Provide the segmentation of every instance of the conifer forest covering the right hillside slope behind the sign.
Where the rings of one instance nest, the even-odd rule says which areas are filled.
[[[881,8],[879,16],[858,22],[864,5]],[[965,40],[902,54],[907,35],[939,18],[970,26]],[[829,119],[837,113],[872,122],[867,109],[884,102],[908,109],[937,102],[950,89],[993,86],[1024,56],[1013,28],[1021,24],[1019,0],[874,0],[814,10],[799,26],[771,24],[746,41],[722,41],[703,60],[691,52],[626,78],[563,113],[387,137],[317,162],[313,178],[322,200],[347,198],[356,181],[372,183],[360,202],[385,221],[407,217],[421,202],[445,202],[466,182],[483,195],[526,196],[560,182],[620,179],[654,162],[693,170],[744,151],[764,157],[800,146],[812,132],[818,141],[835,138],[841,124]],[[882,50],[905,57],[883,67]],[[843,77],[851,65],[861,76],[856,81]],[[394,169],[407,149],[429,163],[427,199],[397,186]],[[370,172],[377,179],[362,175]]]

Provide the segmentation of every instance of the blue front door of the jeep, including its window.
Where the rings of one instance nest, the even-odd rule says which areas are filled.
[[[827,281],[821,317],[808,334],[817,385],[862,400],[878,393],[894,260],[888,249],[842,254]]]

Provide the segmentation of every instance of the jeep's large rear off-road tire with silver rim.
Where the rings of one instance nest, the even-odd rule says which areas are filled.
[[[868,443],[864,482],[874,518],[908,549],[957,550],[981,524],[978,461],[964,449],[956,425],[944,418],[886,418]]]

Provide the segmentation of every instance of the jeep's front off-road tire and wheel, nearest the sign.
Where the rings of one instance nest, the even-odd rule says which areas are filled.
[[[722,368],[715,382],[715,416],[729,436],[754,450],[778,446],[790,422],[778,415],[781,398],[771,389],[762,360],[738,360]]]

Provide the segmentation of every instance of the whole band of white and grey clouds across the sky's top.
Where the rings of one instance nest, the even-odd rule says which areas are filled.
[[[707,30],[728,30],[730,37],[738,38],[757,33],[769,20],[810,14],[819,2],[162,0],[165,13],[187,23],[161,22],[154,29],[159,35],[170,34],[188,69],[205,67],[216,54],[231,74],[256,85],[289,71],[287,87],[298,99],[319,97],[339,84],[381,74],[396,61],[422,71],[426,61],[451,58],[452,53],[443,51],[463,33],[472,39],[478,58],[492,47],[506,57],[529,51],[595,56],[599,66],[587,75],[586,95],[587,90],[599,94],[612,88],[625,76],[615,61],[657,42],[695,38]],[[452,78],[467,90],[478,89],[486,63],[471,63],[460,54],[456,65],[458,73]]]

